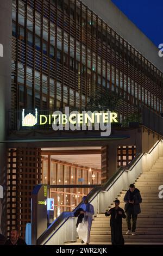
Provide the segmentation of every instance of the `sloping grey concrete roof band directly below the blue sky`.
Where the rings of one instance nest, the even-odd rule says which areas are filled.
[[[163,60],[158,55],[159,48],[111,0],[82,0],[82,2],[163,72]]]

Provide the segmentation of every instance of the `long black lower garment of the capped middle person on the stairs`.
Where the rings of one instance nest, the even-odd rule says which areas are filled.
[[[112,245],[124,245],[122,235],[122,224],[114,222],[111,224],[111,243]]]

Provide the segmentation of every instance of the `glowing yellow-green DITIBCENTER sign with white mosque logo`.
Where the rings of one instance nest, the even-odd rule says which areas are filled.
[[[39,119],[39,120],[38,120]],[[54,111],[53,114],[37,114],[28,113],[24,115],[22,111],[22,126],[32,127],[36,124],[39,125],[52,125],[53,130],[101,130],[101,136],[109,136],[111,133],[111,123],[117,123],[117,113],[110,111],[72,111],[69,112],[69,107],[65,107],[64,114],[61,111]]]

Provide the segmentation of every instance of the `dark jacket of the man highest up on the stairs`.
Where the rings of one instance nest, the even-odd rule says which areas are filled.
[[[132,199],[134,200],[134,204],[133,206],[129,203],[130,197],[132,197]],[[134,209],[134,214],[140,214],[141,209],[140,209],[140,203],[142,202],[142,198],[141,198],[141,194],[140,191],[135,188],[134,192],[130,192],[130,190],[128,190],[126,192],[126,195],[124,196],[124,202],[126,203],[124,206],[124,210],[127,212],[128,209],[131,207],[133,207]]]

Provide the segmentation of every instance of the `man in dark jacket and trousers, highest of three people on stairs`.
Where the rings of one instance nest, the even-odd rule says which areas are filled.
[[[136,235],[136,221],[137,215],[140,214],[140,203],[142,202],[140,191],[135,188],[134,184],[130,184],[129,190],[126,192],[124,196],[124,202],[126,203],[124,206],[124,210],[126,211],[126,221],[128,230],[126,232],[127,235]],[[133,220],[133,225],[131,229],[131,217]]]

